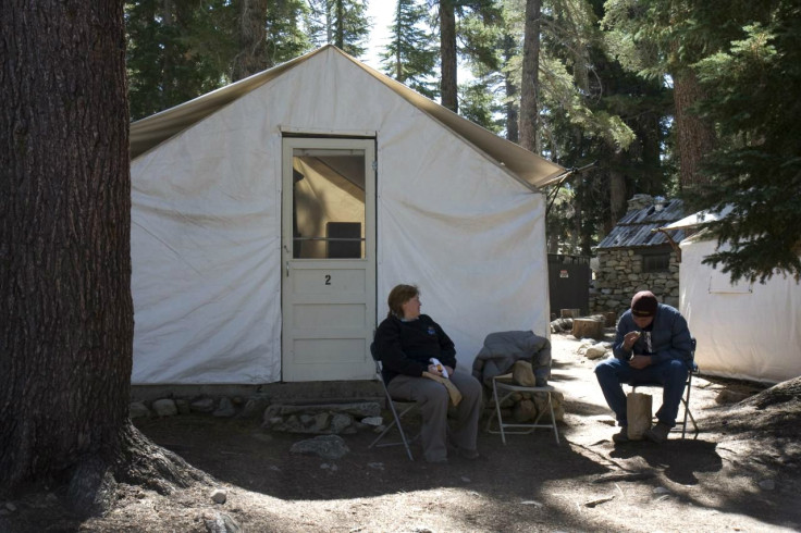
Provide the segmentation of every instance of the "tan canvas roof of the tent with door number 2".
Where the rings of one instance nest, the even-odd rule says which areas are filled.
[[[332,50],[347,58],[378,82],[470,142],[491,160],[494,160],[497,164],[504,166],[522,181],[535,187],[543,187],[553,183],[566,172],[563,166],[552,163],[521,148],[515,142],[501,138],[494,133],[473,124],[439,103],[415,92],[405,85],[357,61],[332,45],[324,46],[306,55],[295,58],[273,69],[254,74],[194,100],[134,122],[131,124],[131,158],[133,159],[145,153],[237,98],[261,87],[271,79],[325,50]]]

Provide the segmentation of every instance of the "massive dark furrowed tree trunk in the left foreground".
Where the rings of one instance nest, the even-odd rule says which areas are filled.
[[[128,420],[123,3],[8,0],[0,32],[0,493],[65,476],[93,511],[151,454]]]

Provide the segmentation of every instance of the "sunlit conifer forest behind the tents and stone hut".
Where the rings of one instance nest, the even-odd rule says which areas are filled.
[[[324,44],[371,63],[378,51],[385,74],[583,169],[549,190],[549,252],[591,255],[643,193],[681,197],[688,214],[734,206],[711,227],[728,248],[710,258],[734,278],[798,276],[799,11],[789,0],[138,0],[125,4],[131,116]]]

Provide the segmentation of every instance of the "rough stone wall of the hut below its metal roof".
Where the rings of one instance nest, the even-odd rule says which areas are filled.
[[[666,272],[642,272],[642,256],[637,249],[597,250],[599,270],[590,293],[590,312],[614,311],[618,315],[631,305],[640,290],[651,290],[662,303],[679,307],[679,263],[670,251]]]

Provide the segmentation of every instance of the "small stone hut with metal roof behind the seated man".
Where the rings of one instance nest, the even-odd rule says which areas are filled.
[[[597,270],[590,310],[623,313],[634,293],[645,289],[653,292],[661,302],[678,308],[679,264],[670,240],[678,244],[685,233],[676,230],[666,235],[654,230],[681,219],[682,202],[634,195],[628,208],[595,249]]]

